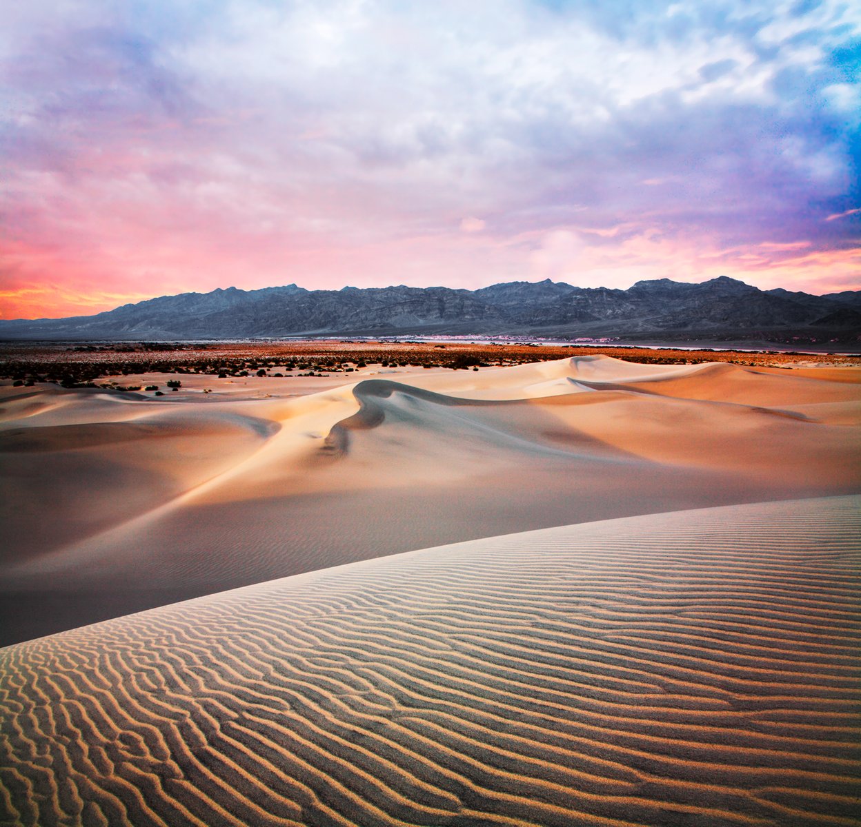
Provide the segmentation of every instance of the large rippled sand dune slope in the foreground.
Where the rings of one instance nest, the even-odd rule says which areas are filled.
[[[858,819],[861,498],[400,554],[0,650],[0,823]]]

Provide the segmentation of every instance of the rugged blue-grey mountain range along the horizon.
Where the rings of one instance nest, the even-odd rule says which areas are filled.
[[[91,316],[0,322],[0,338],[231,339],[326,334],[518,334],[857,342],[861,291],[761,291],[722,276],[639,281],[629,290],[549,279],[476,291],[296,285],[162,296]]]

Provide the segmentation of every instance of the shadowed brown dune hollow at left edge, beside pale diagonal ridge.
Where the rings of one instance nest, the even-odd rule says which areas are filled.
[[[125,401],[120,415],[131,407]],[[146,407],[133,421],[77,423],[71,413],[65,424],[25,419],[0,429],[0,565],[151,512],[240,462],[280,427],[225,413],[152,416]]]

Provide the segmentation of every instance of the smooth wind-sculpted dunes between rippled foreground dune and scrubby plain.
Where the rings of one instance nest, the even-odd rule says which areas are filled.
[[[0,386],[0,644],[415,548],[861,490],[857,368],[182,380]]]

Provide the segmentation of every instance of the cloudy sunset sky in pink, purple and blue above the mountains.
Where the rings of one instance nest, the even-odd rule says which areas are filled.
[[[861,4],[0,0],[0,318],[861,289]]]

